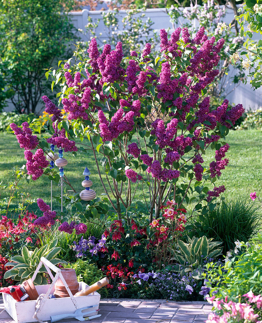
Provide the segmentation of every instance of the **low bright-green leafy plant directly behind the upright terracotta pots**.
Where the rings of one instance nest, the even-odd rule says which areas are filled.
[[[76,272],[77,280],[83,281],[87,285],[92,285],[104,277],[103,272],[95,264],[78,259],[75,263],[69,263],[64,268],[73,268]]]

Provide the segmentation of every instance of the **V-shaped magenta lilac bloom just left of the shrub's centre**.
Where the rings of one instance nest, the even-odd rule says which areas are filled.
[[[123,116],[124,110],[118,109],[111,118],[111,122],[106,119],[102,110],[98,111],[99,129],[103,141],[112,141],[124,131],[130,132],[134,127],[134,112],[129,111]]]

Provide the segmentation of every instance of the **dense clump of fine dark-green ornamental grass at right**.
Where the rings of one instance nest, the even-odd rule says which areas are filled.
[[[221,241],[223,253],[235,248],[235,241],[245,243],[261,228],[261,208],[249,197],[237,196],[225,199],[213,210],[199,215],[199,219],[188,229]]]

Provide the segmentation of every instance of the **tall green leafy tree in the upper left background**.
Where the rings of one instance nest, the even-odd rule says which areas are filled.
[[[19,113],[35,112],[49,86],[43,68],[52,66],[73,42],[73,25],[60,0],[2,0],[0,71],[5,92]]]

